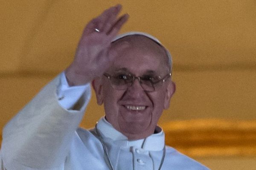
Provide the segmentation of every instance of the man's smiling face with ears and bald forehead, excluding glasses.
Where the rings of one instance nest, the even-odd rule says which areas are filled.
[[[113,65],[106,71],[109,75],[133,74],[135,76],[160,76],[169,74],[168,58],[164,49],[144,36],[128,36],[112,44],[111,50],[122,43],[127,47],[119,51]],[[103,76],[94,83],[98,103],[104,103],[108,122],[130,140],[142,139],[154,133],[163,109],[175,91],[169,79],[160,82],[153,92],[146,92],[138,79],[126,89],[116,90],[110,79]]]

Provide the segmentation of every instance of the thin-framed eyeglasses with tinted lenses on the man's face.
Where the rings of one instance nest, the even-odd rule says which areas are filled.
[[[156,88],[160,87],[163,82],[166,82],[166,80],[171,77],[171,73],[167,74],[163,78],[154,75],[143,75],[137,77],[128,73],[116,73],[113,75],[105,73],[103,75],[111,81],[111,86],[116,90],[126,90],[128,87],[133,85],[135,79],[138,79],[143,90],[147,92],[155,91]]]

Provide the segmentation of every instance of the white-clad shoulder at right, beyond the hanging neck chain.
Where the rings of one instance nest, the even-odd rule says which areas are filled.
[[[198,161],[189,158],[188,156],[169,146],[166,146],[165,162],[167,166],[173,167],[177,170],[209,170],[209,168],[205,167]]]

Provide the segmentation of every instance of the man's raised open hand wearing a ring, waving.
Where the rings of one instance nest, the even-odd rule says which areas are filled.
[[[111,40],[116,37],[129,17],[128,14],[117,17],[121,8],[121,5],[108,8],[84,28],[75,58],[65,70],[70,86],[92,81],[111,65],[117,54],[116,51],[110,50]]]

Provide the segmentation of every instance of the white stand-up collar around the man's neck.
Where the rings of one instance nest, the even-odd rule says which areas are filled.
[[[101,119],[99,119],[99,122],[97,124],[97,129],[99,130],[103,138],[110,138],[113,141],[119,141],[119,144],[121,144],[122,147],[134,146],[137,148],[141,148],[143,145],[144,150],[157,151],[157,150],[163,150],[163,147],[165,145],[164,133],[162,129],[159,133],[154,133],[148,136],[145,139],[144,144],[143,144],[144,139],[129,141],[128,138],[124,136],[122,133],[120,133],[119,131],[117,131],[105,119],[105,117],[102,117]]]

